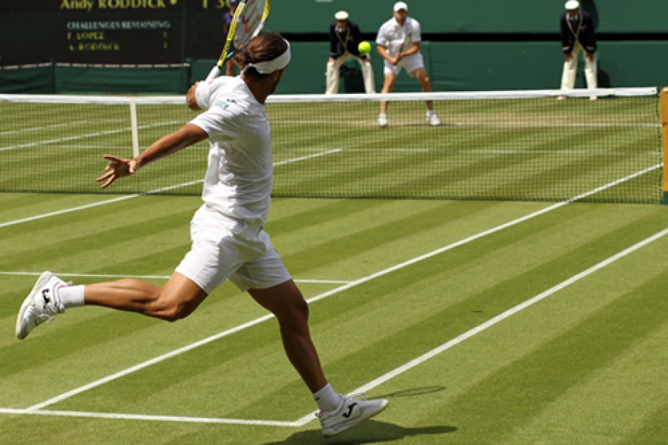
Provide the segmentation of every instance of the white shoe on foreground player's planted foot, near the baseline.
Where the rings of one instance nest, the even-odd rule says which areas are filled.
[[[382,413],[389,403],[384,398],[374,398],[367,401],[366,394],[352,394],[351,396],[341,396],[341,398],[341,404],[335,410],[318,413],[320,425],[323,427],[323,436],[325,437],[338,434],[357,425],[362,420]]]

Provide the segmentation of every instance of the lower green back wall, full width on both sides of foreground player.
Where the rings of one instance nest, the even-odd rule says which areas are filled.
[[[668,85],[668,42],[600,42],[601,87]],[[293,59],[279,94],[318,94],[325,90],[326,42],[294,42]],[[422,53],[436,91],[558,89],[563,55],[558,42],[423,42]],[[0,69],[2,93],[185,93],[206,77],[213,59],[165,68],[42,66]],[[376,91],[383,85],[383,63],[371,52]],[[354,59],[340,93],[362,93],[362,74]],[[584,88],[580,63],[577,88]],[[419,83],[402,71],[395,92],[417,92]]]

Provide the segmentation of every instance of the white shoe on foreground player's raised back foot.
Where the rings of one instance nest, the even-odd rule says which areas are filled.
[[[44,321],[55,319],[57,314],[65,312],[65,306],[58,296],[59,288],[65,285],[63,280],[49,271],[40,275],[35,287],[23,300],[16,318],[16,337],[19,340],[28,337],[32,329]]]

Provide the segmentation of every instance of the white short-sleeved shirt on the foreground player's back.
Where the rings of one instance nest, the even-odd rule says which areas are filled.
[[[209,135],[202,198],[223,215],[267,219],[273,186],[271,129],[265,106],[241,78],[200,82],[197,104],[206,111],[191,121]]]

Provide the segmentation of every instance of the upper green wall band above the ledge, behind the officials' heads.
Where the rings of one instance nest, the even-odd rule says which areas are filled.
[[[376,32],[392,18],[395,0],[290,0],[289,8],[276,2],[267,26],[279,32],[327,32],[341,9],[362,32]],[[410,16],[427,33],[559,32],[559,16],[566,0],[407,0]],[[580,0],[594,18],[597,32],[668,32],[666,0]],[[284,4],[285,5],[285,4]],[[294,20],[295,11],[308,20]]]

